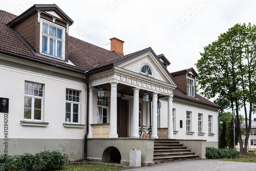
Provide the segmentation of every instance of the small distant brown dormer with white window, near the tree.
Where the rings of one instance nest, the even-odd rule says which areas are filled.
[[[187,96],[195,97],[196,95],[196,77],[198,74],[193,68],[170,73],[178,83],[178,87]]]

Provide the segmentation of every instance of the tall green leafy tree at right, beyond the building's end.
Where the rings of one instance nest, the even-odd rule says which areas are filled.
[[[256,26],[236,24],[204,48],[196,63],[203,95],[216,98],[222,109],[232,109],[239,134],[240,152],[247,153],[251,115],[256,108]],[[249,107],[247,107],[247,105]],[[245,145],[242,145],[239,111],[245,113]],[[248,109],[248,110],[247,110]]]

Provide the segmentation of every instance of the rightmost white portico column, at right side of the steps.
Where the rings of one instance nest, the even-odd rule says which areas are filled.
[[[174,95],[168,97],[168,139],[174,139],[173,97]]]

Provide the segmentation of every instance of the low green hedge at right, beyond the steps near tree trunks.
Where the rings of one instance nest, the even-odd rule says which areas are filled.
[[[237,158],[239,157],[239,152],[232,148],[214,148],[206,147],[205,157],[207,159],[223,159],[223,158]]]

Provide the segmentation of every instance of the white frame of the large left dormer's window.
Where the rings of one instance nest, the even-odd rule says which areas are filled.
[[[62,30],[62,39],[57,38],[57,37],[54,37],[54,36],[49,35],[49,34],[46,34],[46,33],[43,33],[43,32],[42,32],[42,23],[46,23],[46,24],[48,24],[48,25],[54,26],[54,27],[56,27],[56,28],[58,28],[58,29],[61,29],[61,30]],[[65,33],[66,33],[66,28],[65,28],[65,27],[61,27],[61,26],[56,25],[56,24],[54,24],[54,23],[52,23],[52,22],[49,22],[48,20],[45,20],[45,19],[40,18],[40,44],[39,44],[39,46],[40,46],[40,48],[39,48],[40,54],[46,55],[46,56],[50,56],[50,57],[53,57],[53,58],[57,58],[57,59],[60,59],[60,60],[65,60],[65,42],[66,42],[66,41],[65,41]],[[49,39],[49,38],[54,38],[54,39],[56,40],[56,44],[55,44],[55,52],[56,52],[56,53],[57,53],[57,40],[62,41],[62,53],[61,53],[61,57],[58,57],[58,56],[50,55],[50,54],[49,54],[49,49],[50,49],[50,41],[49,41],[49,40],[47,41],[47,42],[48,42],[48,45],[47,45],[48,52],[47,52],[47,53],[42,52],[42,36],[43,36],[43,35],[44,35],[44,36],[47,36],[48,39]]]

